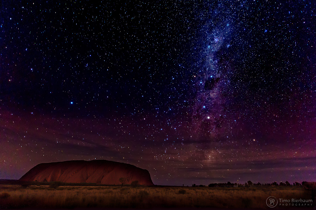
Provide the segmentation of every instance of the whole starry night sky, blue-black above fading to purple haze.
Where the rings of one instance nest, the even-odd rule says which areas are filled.
[[[0,5],[0,179],[106,159],[154,184],[316,181],[314,1]]]

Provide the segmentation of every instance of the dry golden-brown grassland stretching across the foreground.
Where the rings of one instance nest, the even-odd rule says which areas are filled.
[[[121,186],[2,184],[0,185],[0,208],[220,207],[269,209],[266,205],[269,196],[282,199],[313,199],[314,197],[311,190],[297,186],[253,186],[248,188],[123,186],[121,188]]]

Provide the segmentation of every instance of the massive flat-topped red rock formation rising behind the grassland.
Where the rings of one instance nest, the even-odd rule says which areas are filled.
[[[147,170],[131,164],[107,160],[74,160],[64,162],[40,163],[21,177],[21,181],[66,183],[121,184],[123,177],[131,184],[154,185]]]

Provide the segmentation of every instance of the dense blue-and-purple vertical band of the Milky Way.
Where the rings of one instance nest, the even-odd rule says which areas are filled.
[[[218,7],[223,7],[221,4]],[[196,83],[193,105],[193,129],[194,133],[208,133],[214,137],[220,132],[223,117],[225,115],[225,95],[231,78],[231,69],[227,58],[222,57],[230,47],[232,29],[228,19],[214,23],[213,19],[221,19],[228,14],[222,14],[227,8],[215,8],[201,25],[198,37],[197,63],[193,66]]]

